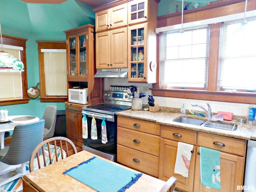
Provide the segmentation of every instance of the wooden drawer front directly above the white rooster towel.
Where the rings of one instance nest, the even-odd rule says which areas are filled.
[[[161,126],[161,138],[196,145],[196,131],[172,126]]]

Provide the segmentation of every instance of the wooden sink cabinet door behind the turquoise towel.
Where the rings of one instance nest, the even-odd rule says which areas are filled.
[[[214,188],[206,188],[206,186],[200,182],[200,155],[198,155],[199,147],[197,147],[196,151],[194,192],[242,192],[242,190],[237,190],[237,186],[243,185],[244,157],[220,152],[221,185],[220,190],[217,190]]]

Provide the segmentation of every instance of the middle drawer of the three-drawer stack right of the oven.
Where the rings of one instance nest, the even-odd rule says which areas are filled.
[[[140,150],[142,152],[159,156],[160,136],[118,127],[117,143],[136,150]]]

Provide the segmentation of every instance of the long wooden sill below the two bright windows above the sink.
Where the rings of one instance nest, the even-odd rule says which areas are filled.
[[[251,104],[256,103],[256,93],[224,92],[206,90],[180,90],[151,88],[152,95],[159,97],[173,97],[184,99],[208,100],[218,102],[232,102]]]

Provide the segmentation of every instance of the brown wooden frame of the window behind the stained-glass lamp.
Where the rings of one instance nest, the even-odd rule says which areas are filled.
[[[28,97],[28,77],[27,77],[27,64],[26,64],[26,41],[27,39],[2,35],[3,44],[23,47],[23,51],[20,51],[20,60],[24,64],[24,71],[21,72],[22,76],[22,98],[10,98],[0,99],[0,106],[14,105],[14,104],[25,104],[29,102]]]

